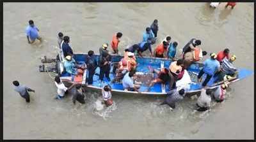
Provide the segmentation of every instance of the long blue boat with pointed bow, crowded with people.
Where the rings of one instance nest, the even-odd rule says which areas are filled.
[[[78,64],[83,64],[86,61],[86,53],[75,53],[74,54],[74,59],[76,60],[76,62]],[[99,54],[95,55],[97,59],[99,59]],[[120,55],[112,55],[112,62],[119,62],[122,59],[122,56]],[[172,62],[169,59],[161,59],[161,58],[156,58],[156,57],[136,57],[136,62],[138,64],[136,71],[138,73],[141,74],[147,74],[149,72],[148,66],[152,66],[155,69],[161,69],[161,67],[169,67],[170,63]],[[65,83],[65,85],[69,86],[72,83],[74,83],[74,77],[72,78],[72,76],[68,75],[68,73],[63,73],[63,62],[61,63],[61,61],[58,64],[58,68],[60,68],[59,71],[59,75],[61,76],[61,80],[63,83]],[[113,69],[113,66],[111,66],[111,71]],[[189,83],[189,89],[188,89],[188,94],[191,93],[196,93],[196,92],[200,92],[202,89],[202,83],[199,83],[197,81],[196,76],[198,75],[200,69],[202,69],[202,64],[201,63],[196,63],[196,64],[192,64],[188,69],[188,73],[189,76],[191,77],[191,83]],[[242,80],[243,78],[246,78],[247,76],[250,76],[253,74],[253,71],[250,71],[248,69],[238,69],[238,75],[234,78],[230,78],[228,81],[228,83],[232,83],[232,82],[237,82],[239,80]],[[102,89],[102,87],[104,85],[109,84],[112,87],[112,91],[113,93],[116,94],[138,94],[138,92],[134,92],[134,91],[127,91],[124,90],[124,87],[122,85],[122,83],[120,82],[116,82],[116,83],[110,83],[108,82],[108,80],[106,78],[104,78],[104,83],[100,83],[99,82],[99,67],[97,67],[95,74],[93,76],[93,83],[92,85],[86,85],[86,89],[89,90],[97,90],[100,91]],[[97,75],[98,74],[98,75]],[[81,78],[81,83],[83,85],[86,84],[86,77],[87,77],[87,71],[84,71],[83,73],[83,77]],[[115,75],[111,72],[110,73],[110,78],[111,80],[113,80],[115,78]],[[152,75],[152,76],[156,76],[156,75]],[[202,76],[202,79],[205,79],[205,75]],[[211,80],[209,81],[209,83],[207,83],[207,86],[209,88],[214,88],[214,87],[218,87],[218,85],[221,85],[222,82],[216,82],[217,77],[212,77]],[[140,94],[145,94],[148,96],[161,96],[161,95],[165,95],[166,92],[170,91],[169,89],[169,85],[163,85],[161,83],[156,83],[154,84],[152,87],[150,87],[150,90],[147,91],[148,88],[148,84],[147,83],[141,83],[140,84]]]

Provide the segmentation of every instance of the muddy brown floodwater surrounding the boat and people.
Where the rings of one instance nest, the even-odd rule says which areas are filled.
[[[95,111],[99,94],[86,93],[86,104],[68,96],[54,99],[56,87],[40,73],[40,57],[55,57],[57,34],[70,36],[74,52],[99,52],[115,32],[124,36],[120,50],[138,43],[145,27],[157,18],[159,39],[166,35],[181,49],[191,38],[202,41],[208,53],[228,47],[234,64],[254,71],[254,4],[237,3],[4,3],[3,4],[3,138],[4,139],[253,139],[254,75],[232,83],[224,103],[211,111],[193,110],[196,99],[186,98],[170,111],[158,106],[164,97],[113,94],[114,105]],[[40,29],[42,43],[29,45],[28,20]],[[35,89],[27,104],[12,81]]]

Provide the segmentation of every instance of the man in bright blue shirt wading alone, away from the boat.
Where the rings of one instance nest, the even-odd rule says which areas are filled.
[[[29,25],[26,27],[26,35],[28,38],[28,43],[34,43],[36,39],[42,41],[42,38],[38,35],[39,29],[35,26],[33,20],[29,20]],[[30,40],[29,40],[30,38]]]

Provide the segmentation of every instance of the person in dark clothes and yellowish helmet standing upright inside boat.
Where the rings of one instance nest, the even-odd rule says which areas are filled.
[[[102,82],[104,75],[106,76],[108,82],[110,82],[109,73],[110,73],[110,64],[111,64],[111,55],[109,54],[108,44],[102,45],[100,47],[100,57],[99,57],[99,67],[100,67],[100,76],[99,79]]]

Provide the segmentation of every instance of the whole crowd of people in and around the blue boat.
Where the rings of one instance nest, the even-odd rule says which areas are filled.
[[[172,38],[170,36],[166,36],[166,38],[156,46],[153,53],[151,46],[156,43],[158,29],[158,21],[154,20],[152,25],[145,29],[145,32],[142,35],[142,41],[125,49],[124,57],[119,62],[113,63],[113,74],[115,74],[115,78],[113,80],[109,78],[112,62],[111,53],[109,53],[108,50],[108,43],[103,44],[99,48],[99,60],[96,59],[94,52],[90,50],[88,51],[86,62],[84,62],[84,64],[77,64],[76,60],[73,58],[74,53],[72,48],[68,44],[70,42],[70,38],[68,36],[64,36],[62,32],[59,32],[58,45],[61,53],[58,55],[58,58],[60,60],[64,60],[65,71],[68,76],[72,76],[72,78],[78,74],[83,74],[84,69],[87,69],[88,78],[86,78],[86,81],[88,85],[93,83],[95,69],[99,67],[100,82],[103,82],[104,78],[111,83],[122,81],[124,90],[140,92],[140,85],[134,84],[134,79],[136,78],[136,66],[138,65],[136,62],[136,55],[143,57],[142,53],[149,50],[151,57],[170,59],[172,60],[172,63],[168,68],[162,68],[160,71],[153,69],[150,66],[148,67],[151,73],[157,74],[157,78],[152,80],[150,85],[148,85],[148,91],[154,83],[165,84],[169,82],[170,92],[168,92],[168,97],[162,104],[168,104],[171,108],[175,108],[175,102],[182,99],[186,94],[186,88],[180,87],[179,85],[191,82],[186,69],[188,69],[191,64],[202,60],[203,56],[207,55],[207,52],[203,51],[200,47],[202,44],[200,39],[193,38],[184,46],[184,48],[182,48],[181,55],[177,56],[177,41],[172,42]],[[35,39],[42,39],[40,38],[38,31],[39,30],[35,26],[33,20],[29,20],[29,25],[26,28],[28,43],[33,43]],[[112,41],[110,42],[113,53],[119,52],[118,43],[120,43],[122,35],[122,32],[117,32],[113,35]],[[232,64],[234,60],[236,60],[236,55],[230,56],[229,52],[229,49],[225,48],[225,50],[219,52],[217,55],[215,53],[211,53],[210,58],[204,61],[204,67],[198,74],[198,80],[202,78],[202,75],[206,75],[206,78],[202,83],[202,87],[204,87],[204,89],[202,90],[200,97],[198,97],[198,111],[207,110],[209,108],[209,101],[211,102],[211,97],[209,99],[210,94],[214,94],[214,99],[218,102],[221,102],[224,99],[227,84],[220,85],[214,90],[207,89],[206,85],[211,80],[212,76],[219,76],[219,82],[223,80],[224,76],[237,75],[237,69]],[[60,80],[60,76],[56,76],[54,78],[54,82],[58,88],[58,95],[56,99],[63,98],[67,91],[71,90],[73,94],[73,102],[76,103],[76,101],[79,101],[79,103],[84,103],[83,92],[85,90],[83,90],[81,84],[74,83],[71,87],[67,88]],[[15,90],[20,93],[20,96],[24,97],[26,101],[29,102],[29,94],[27,91],[35,92],[35,90],[29,89],[25,86],[20,86],[18,81],[14,81],[13,85],[15,85]],[[113,103],[113,100],[111,99],[110,85],[102,87],[102,99],[107,106]]]

